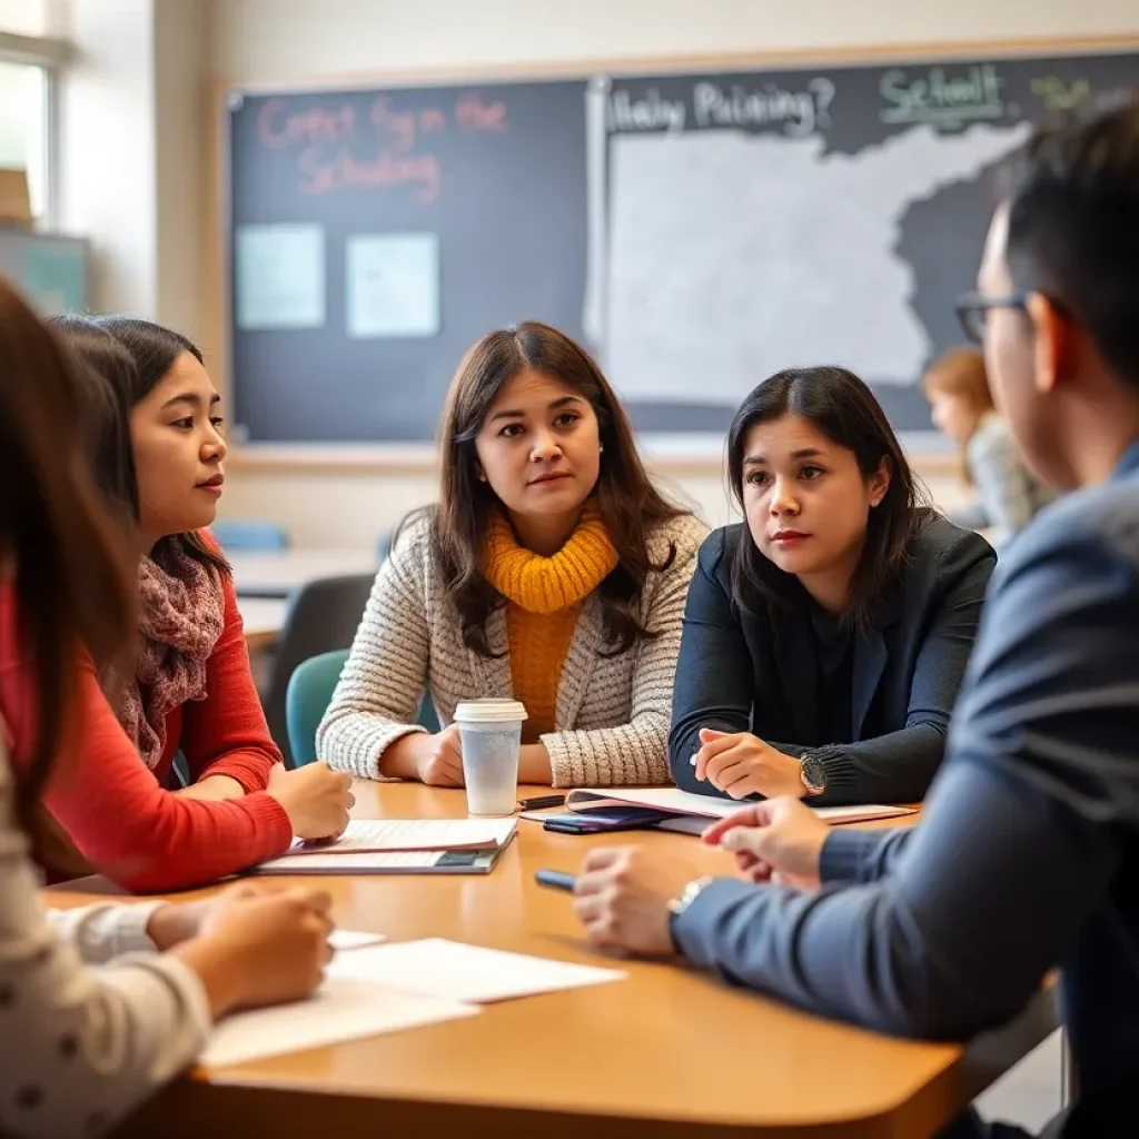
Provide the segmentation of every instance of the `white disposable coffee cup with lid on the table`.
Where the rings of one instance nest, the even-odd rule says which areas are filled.
[[[462,778],[470,814],[514,814],[518,796],[518,748],[526,708],[491,697],[461,700],[454,710],[462,746]]]

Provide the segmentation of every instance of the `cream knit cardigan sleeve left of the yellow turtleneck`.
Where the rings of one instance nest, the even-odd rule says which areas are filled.
[[[416,723],[427,686],[431,632],[424,562],[426,526],[415,526],[376,575],[352,652],[317,729],[317,754],[360,779],[383,779],[380,756]]]

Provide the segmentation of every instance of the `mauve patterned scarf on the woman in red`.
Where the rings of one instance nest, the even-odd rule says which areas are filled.
[[[118,722],[148,768],[166,748],[166,716],[206,698],[206,662],[224,622],[216,573],[186,554],[179,539],[139,560],[139,654]]]

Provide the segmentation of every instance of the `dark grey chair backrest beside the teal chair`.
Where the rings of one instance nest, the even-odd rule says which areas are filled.
[[[318,577],[289,599],[285,628],[277,641],[272,679],[262,700],[273,740],[292,765],[285,702],[289,678],[303,661],[335,649],[349,649],[371,592],[371,574]]]

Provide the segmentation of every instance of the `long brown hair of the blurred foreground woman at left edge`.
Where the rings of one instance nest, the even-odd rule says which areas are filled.
[[[32,656],[36,719],[17,813],[34,808],[72,726],[80,654],[133,672],[134,572],[91,484],[90,404],[74,362],[0,279],[0,559],[15,567],[18,642]]]

